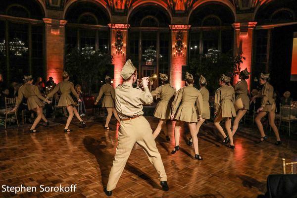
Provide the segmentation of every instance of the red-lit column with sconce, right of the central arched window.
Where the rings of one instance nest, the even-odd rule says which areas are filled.
[[[184,86],[182,81],[182,66],[187,65],[187,44],[188,34],[191,25],[169,25],[171,29],[171,65],[170,65],[170,84],[179,90]],[[175,44],[177,41],[178,32],[182,32],[184,49],[181,54],[177,54]]]

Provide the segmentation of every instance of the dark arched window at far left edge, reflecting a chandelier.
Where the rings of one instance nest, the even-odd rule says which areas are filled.
[[[22,82],[23,75],[46,74],[44,10],[37,0],[2,0],[0,14],[0,72],[8,82]],[[17,18],[16,18],[17,17]],[[17,22],[16,22],[17,19]],[[28,19],[35,19],[35,22]]]

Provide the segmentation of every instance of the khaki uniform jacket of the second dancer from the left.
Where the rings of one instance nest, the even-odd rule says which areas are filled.
[[[69,106],[69,105],[76,105],[76,102],[70,96],[72,93],[76,99],[79,99],[77,92],[74,89],[73,83],[69,81],[62,81],[59,82],[54,89],[49,93],[47,96],[48,98],[52,98],[55,93],[60,91],[61,97],[59,99],[58,106]]]

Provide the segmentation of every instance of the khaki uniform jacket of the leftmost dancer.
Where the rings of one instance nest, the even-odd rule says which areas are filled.
[[[46,98],[44,98],[38,89],[37,86],[32,85],[30,83],[26,83],[23,86],[20,87],[18,91],[18,96],[15,102],[15,106],[19,106],[22,102],[23,97],[27,99],[28,109],[35,109],[37,107],[43,107],[45,104],[40,101],[45,101]]]

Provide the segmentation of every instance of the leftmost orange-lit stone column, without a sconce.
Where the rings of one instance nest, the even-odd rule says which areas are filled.
[[[65,24],[67,21],[44,18],[46,25],[46,68],[47,79],[53,77],[55,83],[62,81],[65,53]],[[47,80],[46,79],[46,80]]]

